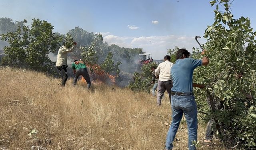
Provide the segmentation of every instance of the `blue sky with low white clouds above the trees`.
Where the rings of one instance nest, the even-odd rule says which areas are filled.
[[[66,34],[76,26],[101,33],[108,44],[143,48],[162,59],[178,46],[192,51],[195,36],[214,22],[210,0],[1,0],[0,17],[46,20],[54,32]],[[256,0],[234,0],[234,18],[248,16],[256,28]],[[254,30],[255,31],[255,30]],[[198,39],[202,44],[206,39]]]

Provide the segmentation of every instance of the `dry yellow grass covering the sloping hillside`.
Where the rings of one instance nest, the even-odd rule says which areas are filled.
[[[0,68],[0,149],[30,150],[164,150],[171,121],[166,98],[156,107],[156,98],[128,88],[94,83],[91,90],[68,80],[29,70]],[[36,140],[28,136],[36,128]],[[174,150],[186,150],[187,130],[182,121]],[[198,140],[205,125],[199,124]],[[199,143],[199,150],[224,150]],[[227,149],[226,149],[227,150]]]

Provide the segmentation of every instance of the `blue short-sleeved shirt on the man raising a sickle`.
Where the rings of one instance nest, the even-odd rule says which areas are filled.
[[[193,92],[193,71],[202,65],[202,60],[184,58],[176,60],[171,68],[172,91]]]

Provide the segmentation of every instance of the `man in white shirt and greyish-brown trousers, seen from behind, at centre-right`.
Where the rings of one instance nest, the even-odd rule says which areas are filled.
[[[169,94],[169,99],[171,101],[171,88],[172,88],[172,78],[171,78],[171,67],[173,63],[170,62],[171,57],[169,55],[164,56],[164,62],[160,63],[155,70],[156,77],[158,78],[157,87],[157,105],[161,105],[162,97],[165,90]]]

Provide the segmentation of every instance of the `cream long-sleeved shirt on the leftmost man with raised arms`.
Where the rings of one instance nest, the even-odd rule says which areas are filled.
[[[66,48],[65,46],[61,46],[58,51],[56,66],[59,67],[62,65],[67,65],[68,52],[73,52],[75,48],[76,45],[74,45],[72,48]]]

